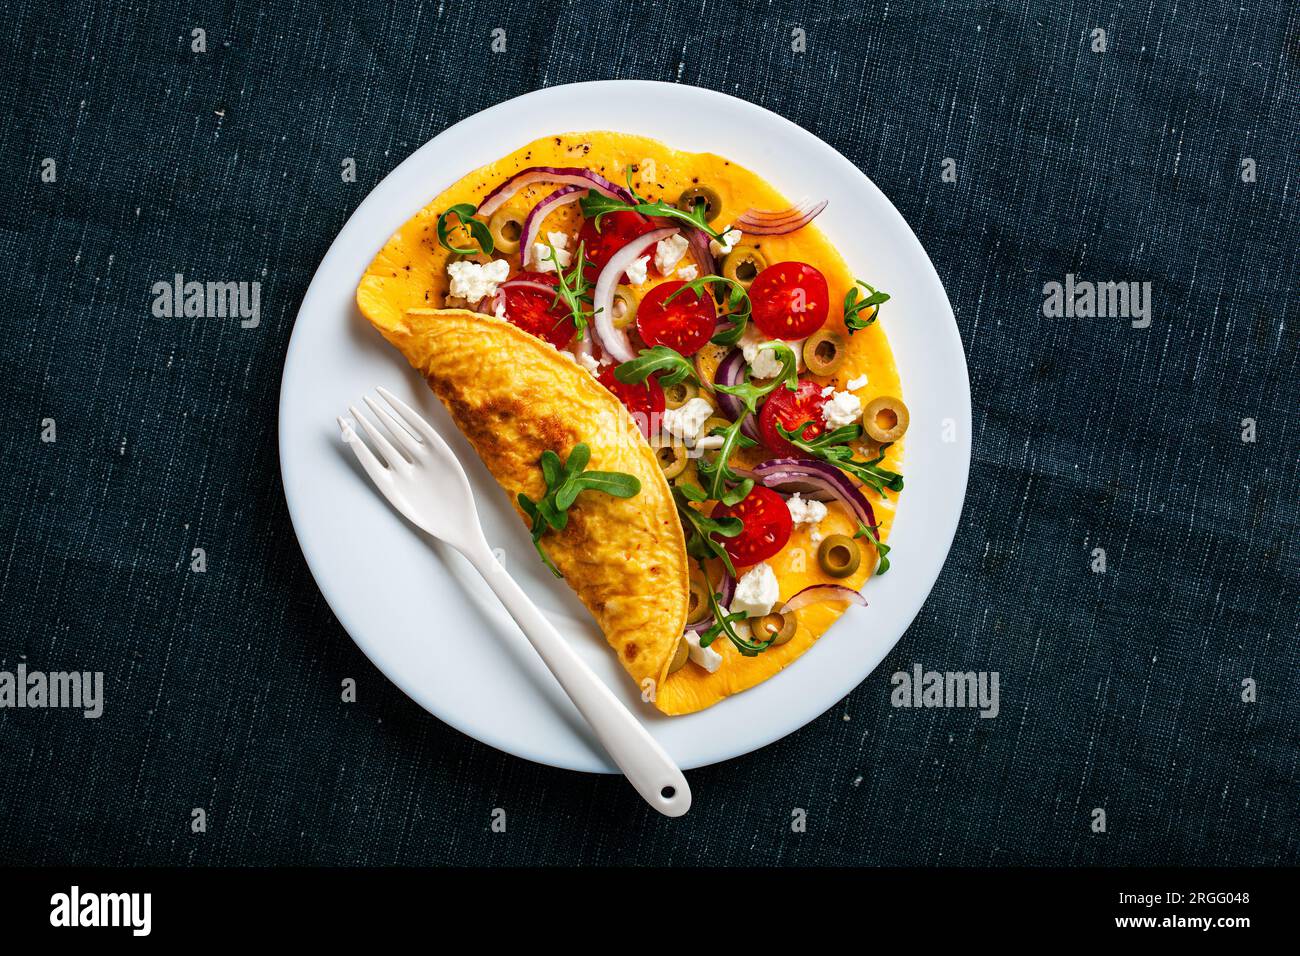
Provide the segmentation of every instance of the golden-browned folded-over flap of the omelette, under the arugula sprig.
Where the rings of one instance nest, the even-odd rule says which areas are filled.
[[[543,451],[567,459],[585,442],[588,468],[641,481],[632,498],[582,492],[566,528],[547,531],[542,546],[624,670],[644,692],[658,689],[686,623],[686,544],[663,470],[623,403],[508,323],[465,310],[387,316],[376,326],[425,377],[525,524],[516,498],[546,493]]]

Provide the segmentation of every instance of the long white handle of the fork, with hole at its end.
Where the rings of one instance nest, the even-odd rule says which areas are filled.
[[[666,817],[680,817],[689,810],[686,777],[659,741],[578,657],[490,551],[465,557],[506,605],[510,617],[645,801]]]

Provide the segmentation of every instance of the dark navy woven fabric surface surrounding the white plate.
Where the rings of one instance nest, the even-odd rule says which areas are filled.
[[[0,40],[0,670],[103,670],[108,697],[0,710],[0,861],[1297,861],[1295,5],[16,0]],[[753,99],[868,173],[975,402],[915,624],[806,728],[694,771],[677,822],[393,688],[307,572],[276,454],[295,311],[367,191],[462,117],[603,77]],[[153,319],[176,272],[261,281],[261,325]],[[1069,272],[1150,281],[1150,328],[1043,317]],[[890,708],[914,662],[998,671],[1001,715]]]

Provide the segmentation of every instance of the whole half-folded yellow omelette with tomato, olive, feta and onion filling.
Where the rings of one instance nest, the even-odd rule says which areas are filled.
[[[677,196],[699,215],[666,212],[662,203]],[[426,378],[642,697],[666,714],[777,674],[849,604],[864,604],[862,585],[888,568],[907,425],[874,321],[889,297],[857,280],[809,224],[819,211],[792,207],[711,153],[619,133],[563,134],[443,191],[358,287],[361,313]],[[744,304],[733,289],[744,289]],[[664,302],[671,290],[679,297]],[[811,333],[806,313],[783,312],[783,297],[796,294],[816,299]],[[780,320],[789,328],[771,325]],[[744,337],[727,341],[746,321]],[[656,345],[689,364],[684,384],[656,384],[671,381],[672,363],[644,384],[615,377]],[[748,423],[716,388],[763,381]],[[697,501],[706,470],[719,467],[698,457],[723,454],[728,431],[742,437],[727,446],[727,481],[715,488],[734,498],[742,481],[757,485],[738,505],[722,494]],[[675,450],[682,436],[689,460]],[[563,527],[538,536],[529,503],[551,488],[543,458],[564,462],[578,445],[590,449],[588,468],[640,489],[584,490]],[[729,518],[742,532],[708,533],[692,515]],[[715,607],[705,606],[710,592]]]

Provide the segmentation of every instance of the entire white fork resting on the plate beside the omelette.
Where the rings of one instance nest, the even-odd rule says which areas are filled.
[[[384,429],[361,415],[356,406],[348,406],[348,412],[380,455],[346,419],[338,419],[343,441],[365,473],[407,520],[455,548],[482,575],[646,803],[666,817],[682,816],[690,809],[686,777],[493,557],[474,509],[469,479],[447,442],[400,398],[384,386],[377,392],[391,411],[369,395],[364,401]]]

